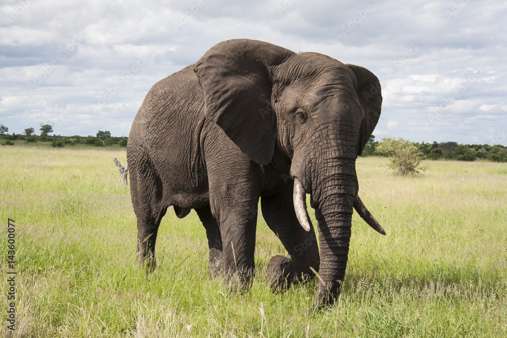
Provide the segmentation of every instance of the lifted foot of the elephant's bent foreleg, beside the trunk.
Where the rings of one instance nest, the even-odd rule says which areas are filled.
[[[273,289],[305,283],[313,276],[315,274],[306,265],[296,265],[293,260],[281,255],[271,257],[266,269],[266,281]]]

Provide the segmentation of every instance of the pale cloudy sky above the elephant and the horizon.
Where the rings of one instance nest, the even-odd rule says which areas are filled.
[[[214,44],[263,40],[373,71],[374,135],[507,145],[500,0],[2,0],[0,124],[128,135],[157,81]]]

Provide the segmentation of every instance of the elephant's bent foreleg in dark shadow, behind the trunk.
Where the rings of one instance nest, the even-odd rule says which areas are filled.
[[[276,255],[269,260],[266,278],[274,286],[287,286],[310,280],[318,271],[320,258],[313,226],[305,231],[296,216],[293,185],[284,192],[261,198],[262,215],[280,239],[291,258]]]

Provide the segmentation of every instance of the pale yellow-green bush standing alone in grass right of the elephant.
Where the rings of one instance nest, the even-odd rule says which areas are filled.
[[[377,145],[376,151],[379,154],[387,154],[392,157],[389,167],[397,175],[414,176],[424,170],[419,167],[424,156],[409,140],[386,137]]]

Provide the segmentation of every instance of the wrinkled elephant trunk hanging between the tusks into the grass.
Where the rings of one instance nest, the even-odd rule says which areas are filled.
[[[319,286],[314,307],[332,305],[340,292],[347,267],[350,228],[357,177],[354,159],[330,160],[312,184],[312,207],[319,228]],[[331,169],[329,169],[331,168]]]

